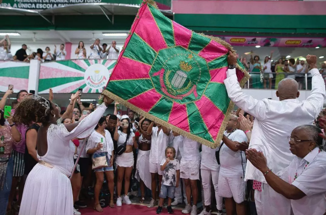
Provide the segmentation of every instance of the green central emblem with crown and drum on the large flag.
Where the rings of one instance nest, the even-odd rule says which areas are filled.
[[[149,74],[158,92],[185,104],[202,97],[210,80],[208,70],[205,59],[179,46],[161,50]]]

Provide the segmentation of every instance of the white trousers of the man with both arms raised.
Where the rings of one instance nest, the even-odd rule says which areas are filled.
[[[291,201],[278,194],[268,184],[262,184],[262,192],[255,190],[258,215],[291,215]]]

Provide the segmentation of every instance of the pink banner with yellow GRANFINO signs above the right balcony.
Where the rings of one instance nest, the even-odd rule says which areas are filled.
[[[277,37],[242,37],[217,36],[231,45],[266,46],[266,47],[326,47],[326,38],[277,38]]]

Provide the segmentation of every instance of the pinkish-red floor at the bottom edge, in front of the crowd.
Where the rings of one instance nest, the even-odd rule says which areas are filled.
[[[110,214],[110,215],[154,215],[156,214],[157,207],[147,208],[142,205],[126,205],[122,204],[121,207],[103,208],[103,212],[97,212],[93,208],[87,207],[84,209],[79,209],[82,215],[99,215],[99,214]],[[164,208],[161,214],[168,214],[167,209]],[[174,209],[175,215],[181,215],[181,210]]]

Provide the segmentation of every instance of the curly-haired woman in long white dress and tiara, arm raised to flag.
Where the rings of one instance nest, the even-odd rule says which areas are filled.
[[[75,147],[73,137],[91,134],[111,99],[79,123],[57,125],[59,110],[55,104],[37,95],[23,100],[14,115],[14,122],[30,125],[42,123],[37,136],[40,160],[30,172],[20,205],[19,215],[72,215],[73,198],[69,176],[73,171]]]

